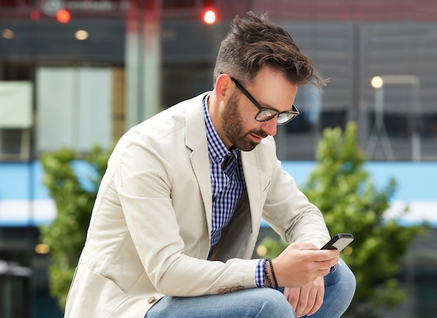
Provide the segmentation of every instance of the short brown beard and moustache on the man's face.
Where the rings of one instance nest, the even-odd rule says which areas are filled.
[[[255,120],[255,119],[253,119]],[[258,146],[258,142],[254,142],[250,135],[257,135],[259,137],[267,137],[268,135],[263,130],[249,130],[244,131],[244,121],[238,108],[238,98],[236,93],[230,96],[228,105],[221,113],[221,123],[223,132],[226,137],[232,142],[232,145],[242,151],[251,151]]]

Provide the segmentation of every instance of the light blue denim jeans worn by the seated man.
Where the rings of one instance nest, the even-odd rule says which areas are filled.
[[[311,317],[341,317],[355,294],[355,276],[340,260],[336,271],[325,276],[323,305]],[[297,317],[283,294],[271,288],[245,289],[223,295],[198,297],[165,296],[147,312],[145,318],[231,318]]]

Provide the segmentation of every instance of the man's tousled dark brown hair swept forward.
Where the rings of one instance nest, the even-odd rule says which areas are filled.
[[[310,83],[321,90],[327,82],[317,75],[313,61],[300,52],[290,34],[269,21],[267,13],[249,12],[243,19],[236,16],[218,50],[214,83],[220,73],[249,83],[264,66],[283,73],[293,84]]]

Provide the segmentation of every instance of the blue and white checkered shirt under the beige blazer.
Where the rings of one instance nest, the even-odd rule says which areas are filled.
[[[212,125],[209,116],[207,99],[203,99],[203,113],[205,116],[205,126],[207,128],[207,143],[209,153],[209,170],[211,172],[212,187],[212,229],[211,229],[211,256],[212,248],[221,239],[221,232],[228,225],[235,206],[242,195],[246,182],[240,149],[229,151]],[[222,168],[223,162],[228,160],[225,167]],[[208,257],[208,258],[209,258]],[[260,259],[255,271],[255,281],[258,287],[264,286],[263,264],[265,259]]]

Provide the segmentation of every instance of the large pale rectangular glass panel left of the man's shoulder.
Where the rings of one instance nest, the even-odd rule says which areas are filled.
[[[110,147],[110,68],[39,68],[38,83],[38,151]]]

